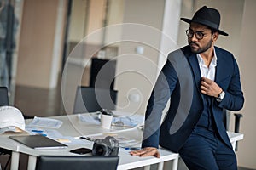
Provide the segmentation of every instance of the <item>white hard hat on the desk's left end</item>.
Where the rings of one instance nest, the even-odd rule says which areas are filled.
[[[25,130],[25,120],[21,111],[13,106],[4,105],[0,107],[0,130],[18,127]]]

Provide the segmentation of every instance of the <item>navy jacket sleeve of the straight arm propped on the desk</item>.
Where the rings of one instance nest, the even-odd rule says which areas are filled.
[[[176,84],[177,73],[172,64],[166,61],[148,100],[143,133],[143,148],[158,148],[162,111],[165,109],[166,103],[170,99]]]

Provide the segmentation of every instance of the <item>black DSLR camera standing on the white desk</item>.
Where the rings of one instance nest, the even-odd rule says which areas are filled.
[[[93,156],[118,156],[119,141],[113,136],[107,136],[105,139],[95,139],[92,147]]]

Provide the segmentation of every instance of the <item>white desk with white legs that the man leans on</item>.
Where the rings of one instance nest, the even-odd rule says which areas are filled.
[[[137,128],[134,129],[121,129],[121,130],[105,130],[98,125],[86,125],[84,122],[80,122],[77,115],[70,116],[54,116],[52,118],[61,120],[63,122],[62,126],[58,131],[63,136],[81,136],[81,135],[90,135],[90,134],[101,134],[101,133],[121,133],[122,136],[130,137],[141,141],[143,132]],[[29,121],[27,121],[29,122]],[[230,137],[230,142],[235,148],[236,141],[243,139],[243,134],[240,133],[228,133]],[[84,146],[84,145],[83,145]],[[36,166],[37,156],[41,155],[54,155],[54,156],[77,156],[73,153],[70,153],[69,150],[74,148],[79,148],[81,145],[69,146],[67,149],[62,150],[33,150],[29,147],[26,147],[23,144],[15,142],[12,139],[9,139],[8,136],[0,136],[0,147],[12,150],[12,159],[11,159],[11,169],[16,170],[19,166],[20,153],[25,153],[29,156],[28,159],[28,170],[32,170]],[[92,147],[88,145],[89,148]],[[177,169],[178,154],[173,153],[169,150],[160,149],[160,158],[155,158],[153,156],[149,157],[138,157],[131,156],[128,153],[128,150],[119,150],[119,166],[118,170],[131,169],[136,167],[144,167],[145,170],[150,169],[150,165],[159,163],[159,170],[162,169],[165,161],[173,160],[172,170]]]

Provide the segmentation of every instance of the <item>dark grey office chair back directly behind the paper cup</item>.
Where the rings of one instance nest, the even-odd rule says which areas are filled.
[[[73,113],[114,110],[118,91],[103,88],[79,86],[73,106]]]

